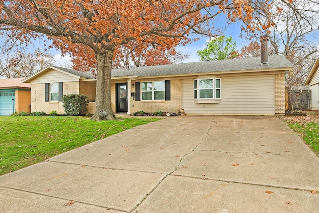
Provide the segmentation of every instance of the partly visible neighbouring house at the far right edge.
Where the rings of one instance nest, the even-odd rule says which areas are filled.
[[[319,59],[310,69],[305,85],[311,90],[311,109],[319,110]]]

